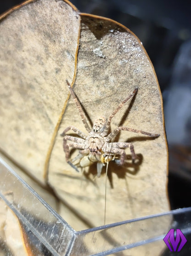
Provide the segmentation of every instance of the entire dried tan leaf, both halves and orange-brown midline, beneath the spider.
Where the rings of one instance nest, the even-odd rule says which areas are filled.
[[[136,97],[112,119],[112,130],[124,125],[160,137],[127,131],[118,136],[119,142],[134,144],[140,161],[133,165],[128,157],[123,167],[109,163],[106,221],[167,211],[162,98],[138,38],[107,18],[79,15],[61,0],[29,1],[3,18],[1,150],[54,189],[61,199],[59,213],[73,228],[102,225],[105,169],[100,178],[96,166],[77,173],[63,153],[60,134],[67,126],[87,133],[73,98],[68,100],[65,81],[73,84],[91,123],[99,116],[108,117],[138,86]]]

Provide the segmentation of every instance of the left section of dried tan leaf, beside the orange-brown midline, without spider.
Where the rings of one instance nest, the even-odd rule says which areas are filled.
[[[78,34],[79,17],[62,1],[30,1],[0,23],[1,149],[43,183]]]

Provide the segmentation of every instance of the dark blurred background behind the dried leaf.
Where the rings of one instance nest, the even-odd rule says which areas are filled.
[[[0,13],[22,1],[0,2]],[[191,3],[187,0],[72,0],[80,12],[112,18],[135,33],[163,94],[171,209],[191,206]]]

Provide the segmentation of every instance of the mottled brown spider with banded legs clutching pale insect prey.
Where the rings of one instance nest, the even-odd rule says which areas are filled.
[[[84,123],[85,129],[88,131],[88,135],[80,131],[78,128],[70,125],[61,134],[63,136],[63,149],[66,156],[67,163],[72,166],[77,172],[78,167],[88,167],[94,162],[97,162],[97,176],[100,177],[102,167],[109,161],[115,161],[119,165],[123,165],[126,153],[126,148],[130,149],[133,163],[137,159],[132,143],[127,142],[112,142],[113,138],[116,137],[119,131],[132,131],[136,133],[142,133],[150,137],[159,137],[160,134],[149,133],[146,131],[135,130],[124,126],[118,126],[111,133],[108,134],[110,129],[111,120],[114,115],[123,107],[124,103],[133,97],[138,87],[135,87],[134,91],[122,101],[118,107],[112,112],[108,119],[104,116],[98,118],[92,129],[90,129],[87,120],[85,119],[83,108],[78,100],[77,95],[73,91],[70,83],[66,80],[67,86],[70,90],[70,94],[73,96],[73,100],[78,107],[82,122]],[[74,131],[79,137],[67,135],[67,131]],[[69,161],[70,149],[79,149],[79,154]],[[116,157],[116,155],[118,157]]]

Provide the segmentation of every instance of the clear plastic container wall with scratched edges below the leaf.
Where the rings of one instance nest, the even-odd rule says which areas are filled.
[[[145,251],[150,252],[149,255],[161,255],[164,252],[156,248],[170,253],[163,241],[170,228],[177,227],[185,236],[191,235],[191,208],[76,232],[2,159],[0,197],[1,202],[4,202],[17,217],[25,244],[28,241],[28,248],[34,255],[141,256],[145,255],[141,253]],[[160,223],[164,221],[171,223],[165,230],[160,228]],[[144,228],[141,228],[143,226]],[[121,240],[113,241],[113,234],[118,234]],[[189,245],[188,242],[187,244]],[[185,250],[188,250],[188,245],[185,245]],[[4,253],[8,255],[5,248],[6,246]]]

